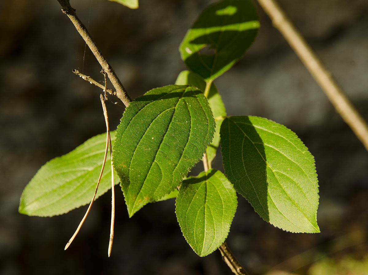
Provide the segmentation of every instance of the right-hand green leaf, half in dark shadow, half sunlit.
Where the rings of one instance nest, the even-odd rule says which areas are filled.
[[[314,158],[297,135],[260,117],[228,117],[221,130],[225,174],[255,211],[290,232],[319,232]]]

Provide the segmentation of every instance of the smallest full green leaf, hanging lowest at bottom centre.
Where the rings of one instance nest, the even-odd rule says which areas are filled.
[[[195,253],[207,256],[225,241],[236,207],[233,185],[216,169],[183,181],[176,199],[176,216]]]

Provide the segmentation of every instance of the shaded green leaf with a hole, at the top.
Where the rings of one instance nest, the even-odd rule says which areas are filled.
[[[179,51],[206,81],[230,69],[254,41],[259,22],[251,0],[224,0],[206,8],[188,30]]]

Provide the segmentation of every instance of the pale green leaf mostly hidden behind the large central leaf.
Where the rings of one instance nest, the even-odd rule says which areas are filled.
[[[195,72],[191,71],[182,71],[175,82],[176,85],[193,85],[198,89],[204,91],[206,88],[206,81]],[[221,96],[217,91],[217,88],[214,83],[212,83],[209,93],[208,93],[208,104],[211,107],[212,114],[216,119],[216,130],[215,135],[213,136],[212,142],[207,147],[207,160],[209,163],[213,161],[216,156],[216,149],[220,144],[220,126],[223,121],[222,116],[226,116],[225,106],[222,102]]]

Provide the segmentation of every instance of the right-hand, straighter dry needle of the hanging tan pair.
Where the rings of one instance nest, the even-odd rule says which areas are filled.
[[[106,85],[106,79],[105,79]],[[103,115],[105,116],[106,122],[106,131],[108,133],[108,140],[109,140],[109,147],[110,147],[110,160],[111,160],[111,226],[110,226],[110,240],[109,240],[109,249],[107,250],[107,254],[111,255],[111,249],[113,246],[113,239],[114,239],[114,221],[115,221],[115,192],[114,192],[114,168],[112,162],[112,146],[111,146],[111,137],[110,137],[110,126],[109,126],[109,117],[107,116],[107,109],[105,104],[105,97],[100,94]]]

